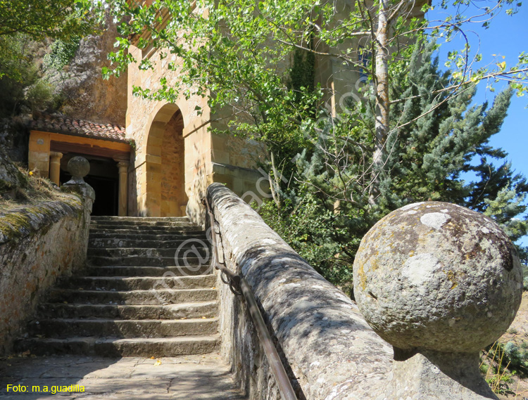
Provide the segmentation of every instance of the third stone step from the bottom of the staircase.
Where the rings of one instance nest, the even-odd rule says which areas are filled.
[[[218,302],[195,302],[167,305],[63,304],[39,305],[39,318],[120,318],[120,319],[180,319],[214,318]]]

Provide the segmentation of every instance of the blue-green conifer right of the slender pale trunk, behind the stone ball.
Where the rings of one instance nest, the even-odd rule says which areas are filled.
[[[410,100],[392,110],[391,120],[403,128],[393,130],[389,145],[395,148],[387,162],[391,191],[400,199],[454,202],[483,212],[515,241],[527,233],[527,221],[520,216],[527,208],[528,183],[504,161],[507,153],[489,145],[501,129],[513,90],[498,93],[490,108],[487,103],[470,106],[474,87],[450,98],[436,94],[450,84],[450,74],[440,72],[434,49],[433,42],[417,45],[408,75],[394,79],[402,84],[393,91],[407,86],[399,96]],[[422,114],[415,124],[406,124]]]

